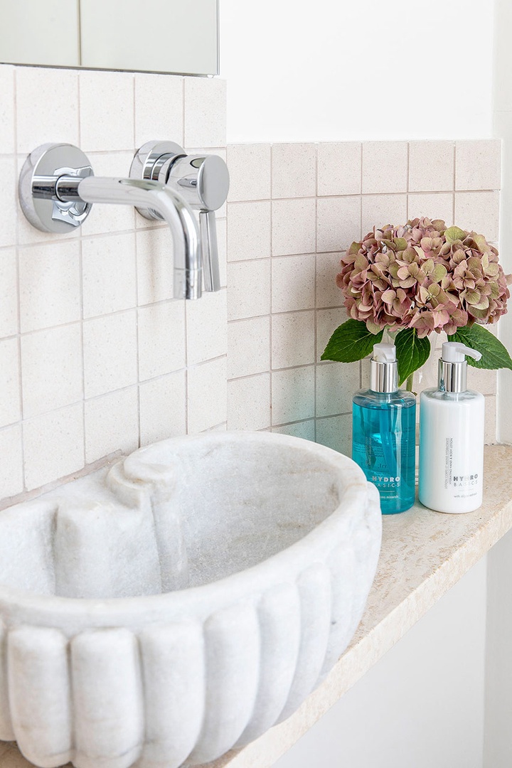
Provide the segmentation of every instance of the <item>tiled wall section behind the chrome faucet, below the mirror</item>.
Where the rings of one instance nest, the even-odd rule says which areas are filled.
[[[132,207],[95,205],[71,235],[18,207],[18,170],[76,144],[128,175],[150,139],[226,157],[225,83],[0,66],[0,498],[121,450],[226,423],[226,288],[172,299],[172,237]],[[226,208],[217,231],[226,286]]]

